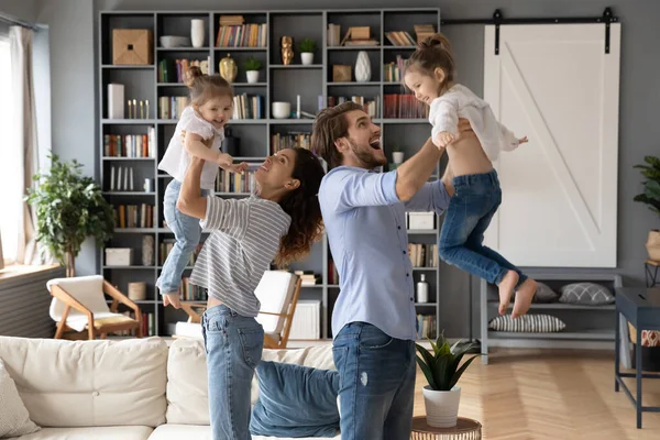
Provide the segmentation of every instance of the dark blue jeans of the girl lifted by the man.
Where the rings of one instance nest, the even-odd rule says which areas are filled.
[[[518,287],[527,276],[504,256],[484,246],[484,233],[502,204],[497,172],[471,174],[453,178],[455,193],[449,201],[438,253],[448,264],[498,285],[506,273],[515,271]]]

